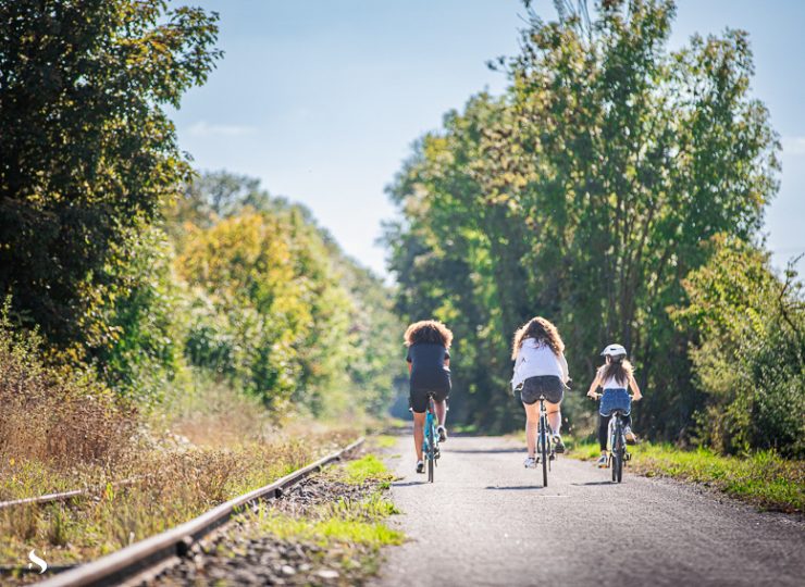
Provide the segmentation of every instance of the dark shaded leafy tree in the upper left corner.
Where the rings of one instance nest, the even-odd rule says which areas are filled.
[[[0,292],[84,342],[116,251],[188,166],[164,107],[206,80],[218,16],[163,0],[0,1]]]

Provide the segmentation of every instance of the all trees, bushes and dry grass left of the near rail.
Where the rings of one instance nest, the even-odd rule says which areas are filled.
[[[89,490],[0,512],[2,562],[97,557],[355,439],[400,369],[391,291],[307,209],[179,150],[168,111],[222,58],[218,14],[0,23],[0,500]]]

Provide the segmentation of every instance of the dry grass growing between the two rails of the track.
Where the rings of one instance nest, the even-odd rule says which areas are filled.
[[[51,563],[95,558],[163,532],[235,496],[267,485],[343,442],[343,430],[244,441],[228,448],[153,449],[119,463],[110,475],[138,476],[129,486],[106,484],[69,504],[0,511],[0,562],[47,550]]]

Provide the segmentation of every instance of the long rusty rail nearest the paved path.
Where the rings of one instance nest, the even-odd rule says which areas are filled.
[[[147,576],[154,576],[164,569],[179,562],[183,557],[190,552],[195,544],[225,524],[236,513],[259,501],[281,497],[286,489],[311,474],[320,472],[325,465],[339,461],[344,455],[361,446],[363,441],[364,438],[361,437],[336,452],[327,454],[270,485],[231,499],[189,522],[135,542],[96,561],[59,573],[37,585],[42,587],[124,585],[138,583]],[[49,496],[42,496],[42,498],[45,497]]]

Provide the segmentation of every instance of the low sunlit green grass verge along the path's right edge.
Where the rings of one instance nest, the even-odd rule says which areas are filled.
[[[595,442],[572,441],[568,455],[597,459]],[[723,457],[699,448],[681,450],[671,445],[641,442],[630,448],[633,472],[647,477],[670,477],[713,487],[761,510],[805,512],[805,462],[775,452]]]

